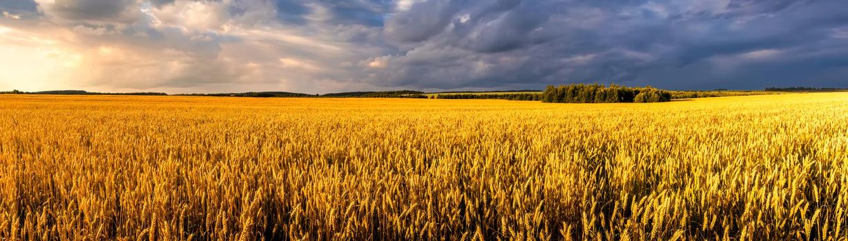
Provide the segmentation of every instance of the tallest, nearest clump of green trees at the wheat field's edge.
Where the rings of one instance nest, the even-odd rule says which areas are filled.
[[[649,103],[671,101],[672,93],[650,86],[632,88],[622,85],[548,85],[542,101],[549,103]]]

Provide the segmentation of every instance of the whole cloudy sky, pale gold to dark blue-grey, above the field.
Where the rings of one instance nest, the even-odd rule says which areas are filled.
[[[848,87],[845,0],[0,0],[0,90]]]

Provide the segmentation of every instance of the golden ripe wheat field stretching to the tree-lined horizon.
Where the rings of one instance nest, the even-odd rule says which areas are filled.
[[[848,238],[848,93],[0,96],[3,240]]]

